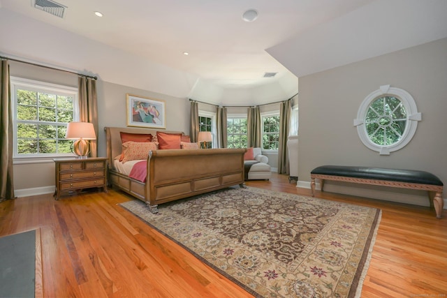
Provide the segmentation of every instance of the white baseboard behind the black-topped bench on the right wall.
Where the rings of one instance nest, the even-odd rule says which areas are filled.
[[[310,181],[298,181],[296,187],[310,189]],[[316,182],[315,189],[321,191],[321,184]],[[404,188],[385,186],[372,186],[362,184],[349,184],[344,182],[325,181],[324,190],[330,193],[342,193],[344,195],[356,195],[363,198],[400,202],[430,206],[426,191],[415,191]],[[447,209],[447,199],[444,200],[444,209]]]

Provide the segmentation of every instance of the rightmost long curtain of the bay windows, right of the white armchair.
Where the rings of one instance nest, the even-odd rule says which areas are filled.
[[[279,144],[278,144],[278,173],[289,174],[287,138],[288,128],[291,120],[291,100],[279,103]]]

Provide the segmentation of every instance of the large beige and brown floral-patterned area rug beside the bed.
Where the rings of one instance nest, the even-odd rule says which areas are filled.
[[[256,297],[360,297],[381,210],[261,188],[122,206]]]

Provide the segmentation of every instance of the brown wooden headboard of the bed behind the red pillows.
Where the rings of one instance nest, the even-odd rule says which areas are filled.
[[[136,127],[105,127],[105,139],[107,142],[107,158],[109,167],[113,167],[113,158],[121,154],[121,135],[120,132],[124,133],[150,133],[156,136],[156,129],[150,128],[136,128]],[[162,131],[163,133],[182,133],[182,131]]]

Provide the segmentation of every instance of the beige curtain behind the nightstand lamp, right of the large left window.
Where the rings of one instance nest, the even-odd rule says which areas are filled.
[[[98,156],[98,103],[96,96],[96,80],[91,77],[78,77],[80,121],[93,124],[96,140],[90,140],[91,157]]]

